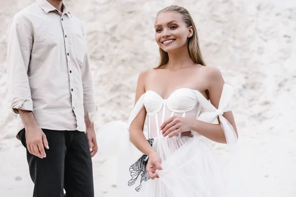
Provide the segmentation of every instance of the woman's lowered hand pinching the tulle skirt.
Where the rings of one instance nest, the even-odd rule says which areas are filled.
[[[146,171],[148,172],[152,180],[155,178],[159,178],[156,173],[156,170],[157,169],[162,170],[162,167],[160,164],[161,164],[161,159],[156,152],[152,152],[148,155],[148,164],[146,167]]]

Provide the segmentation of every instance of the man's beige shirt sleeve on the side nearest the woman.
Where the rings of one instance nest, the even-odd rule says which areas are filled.
[[[94,98],[93,80],[87,51],[82,68],[82,85],[84,116],[88,116],[90,121],[92,121],[93,116],[97,113],[97,104]]]

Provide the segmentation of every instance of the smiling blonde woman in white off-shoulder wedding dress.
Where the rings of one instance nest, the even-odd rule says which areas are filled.
[[[127,126],[112,122],[99,131],[121,134],[118,195],[221,197],[225,177],[203,138],[236,143],[232,88],[219,69],[205,65],[185,8],[162,9],[154,28],[160,63],[140,73]],[[148,136],[143,132],[146,118]]]

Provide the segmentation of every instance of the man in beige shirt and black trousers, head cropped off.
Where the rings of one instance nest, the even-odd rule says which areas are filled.
[[[11,108],[34,197],[93,197],[96,113],[82,23],[63,0],[37,0],[7,35]]]

